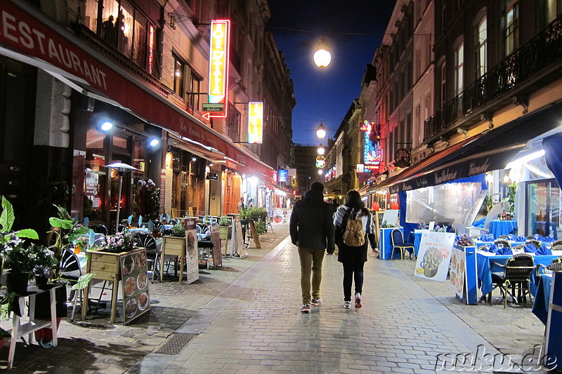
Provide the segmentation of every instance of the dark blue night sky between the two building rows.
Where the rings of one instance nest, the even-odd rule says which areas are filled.
[[[294,82],[293,142],[318,145],[316,128],[334,137],[361,91],[365,66],[392,14],[396,0],[269,0],[273,32]],[[332,49],[325,69],[314,65],[314,46],[324,36]],[[326,140],[323,142],[326,145]]]

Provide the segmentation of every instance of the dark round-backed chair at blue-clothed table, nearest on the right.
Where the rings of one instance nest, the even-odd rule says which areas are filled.
[[[502,272],[492,272],[492,285],[494,288],[499,288],[504,296],[504,308],[507,306],[508,295],[511,296],[515,303],[527,302],[526,295],[529,295],[529,299],[532,300],[529,289],[530,276],[536,269],[532,255],[519,253],[509,258],[505,265],[498,262],[492,262],[492,265],[502,268]],[[515,297],[516,290],[518,291],[517,298]],[[488,296],[488,301],[492,301],[491,292]]]

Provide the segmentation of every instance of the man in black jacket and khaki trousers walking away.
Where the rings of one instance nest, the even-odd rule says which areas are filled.
[[[322,191],[324,185],[313,182],[311,189],[294,204],[289,222],[291,241],[298,247],[301,262],[303,313],[310,313],[311,305],[320,305],[324,253],[334,253],[332,206],[324,202]]]

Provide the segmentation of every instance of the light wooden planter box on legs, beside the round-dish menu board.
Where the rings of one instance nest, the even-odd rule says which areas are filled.
[[[109,253],[100,250],[86,251],[88,253],[88,262],[86,265],[86,274],[93,273],[94,279],[102,281],[112,281],[111,290],[111,323],[115,323],[115,314],[117,311],[117,294],[119,293],[119,281],[121,280],[121,267],[119,265],[122,253]],[[82,304],[82,321],[86,319],[88,305],[89,286],[84,288],[84,303]]]

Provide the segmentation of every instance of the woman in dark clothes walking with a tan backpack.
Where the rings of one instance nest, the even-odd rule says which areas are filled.
[[[360,220],[364,243],[360,246],[349,246],[344,243],[348,220]],[[374,249],[374,224],[372,215],[365,208],[359,192],[352,189],[346,195],[346,203],[339,206],[334,218],[336,243],[338,244],[338,261],[344,265],[344,308],[351,307],[351,286],[355,281],[355,308],[362,307],[361,295],[363,287],[363,267],[367,261],[367,239]],[[349,241],[348,241],[349,243]]]

